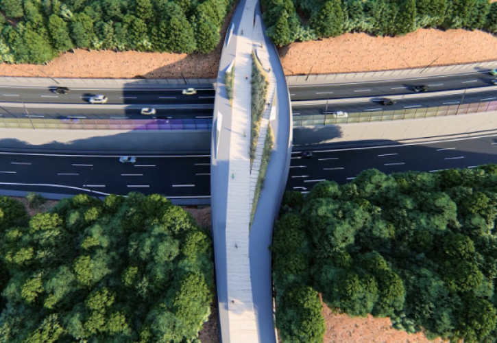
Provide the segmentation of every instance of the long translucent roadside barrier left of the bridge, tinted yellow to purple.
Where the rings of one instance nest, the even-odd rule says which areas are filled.
[[[3,118],[0,129],[31,130],[211,130],[213,119],[43,119]]]

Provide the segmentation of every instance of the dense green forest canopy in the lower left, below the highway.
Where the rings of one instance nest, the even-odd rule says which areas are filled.
[[[0,342],[197,342],[211,245],[158,195],[79,195],[30,220],[0,197]]]

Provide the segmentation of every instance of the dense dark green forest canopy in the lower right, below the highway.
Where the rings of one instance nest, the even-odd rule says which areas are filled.
[[[497,165],[320,182],[286,193],[276,224],[276,325],[322,343],[318,292],[349,316],[451,342],[496,342]]]

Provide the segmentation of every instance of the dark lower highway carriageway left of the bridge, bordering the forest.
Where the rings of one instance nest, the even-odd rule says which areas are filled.
[[[0,153],[0,189],[104,196],[131,191],[173,198],[210,196],[210,155],[119,156]]]

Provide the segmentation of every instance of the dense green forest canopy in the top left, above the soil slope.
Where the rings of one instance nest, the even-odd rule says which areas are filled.
[[[0,0],[0,58],[44,63],[75,47],[208,53],[231,0]]]

